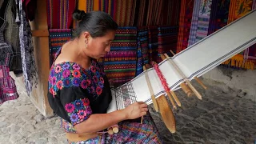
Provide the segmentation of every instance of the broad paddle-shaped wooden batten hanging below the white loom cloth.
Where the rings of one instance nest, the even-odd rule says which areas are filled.
[[[146,66],[146,69],[150,69],[151,67],[149,64],[146,64],[145,66]],[[174,113],[170,109],[166,96],[162,94],[160,97],[156,98],[156,101],[159,106],[158,108],[162,116],[162,121],[165,123],[167,129],[174,134],[176,132],[176,122],[174,118]]]

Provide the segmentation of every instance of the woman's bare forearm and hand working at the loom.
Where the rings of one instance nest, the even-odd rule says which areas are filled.
[[[135,119],[146,115],[145,102],[135,102],[123,110],[116,110],[108,114],[91,114],[86,121],[74,126],[77,133],[92,133],[104,130],[126,119]]]

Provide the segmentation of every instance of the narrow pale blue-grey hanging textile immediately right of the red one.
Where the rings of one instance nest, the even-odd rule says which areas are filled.
[[[191,46],[195,43],[195,38],[198,30],[198,14],[200,10],[201,0],[194,1],[194,9],[192,14],[191,26],[190,26],[190,36],[188,46]]]

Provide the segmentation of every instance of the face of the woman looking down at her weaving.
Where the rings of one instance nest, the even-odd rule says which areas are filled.
[[[107,31],[105,36],[97,38],[88,38],[86,54],[90,58],[102,58],[110,52],[110,43],[114,40],[114,30]]]

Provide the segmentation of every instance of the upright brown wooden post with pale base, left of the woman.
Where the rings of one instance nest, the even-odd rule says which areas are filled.
[[[50,108],[47,91],[48,77],[50,72],[49,56],[49,32],[47,25],[46,1],[37,1],[37,9],[34,21],[30,22],[35,63],[38,69],[38,85],[33,88],[30,95],[31,102],[45,117],[53,116],[53,110]]]

